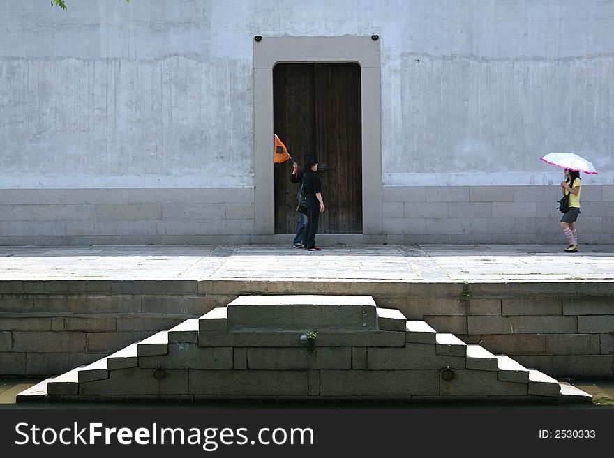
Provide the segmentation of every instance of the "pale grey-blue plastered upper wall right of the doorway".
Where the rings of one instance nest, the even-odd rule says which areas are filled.
[[[601,171],[590,183],[614,183],[614,3],[394,7],[370,10],[383,35],[384,185],[558,183],[539,161],[552,151],[590,158]]]

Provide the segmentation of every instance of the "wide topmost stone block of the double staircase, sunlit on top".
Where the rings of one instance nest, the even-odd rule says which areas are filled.
[[[229,329],[377,330],[371,296],[239,296],[227,308]]]

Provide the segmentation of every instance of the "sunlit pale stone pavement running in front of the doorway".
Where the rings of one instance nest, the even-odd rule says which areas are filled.
[[[614,245],[3,246],[0,280],[611,282]]]

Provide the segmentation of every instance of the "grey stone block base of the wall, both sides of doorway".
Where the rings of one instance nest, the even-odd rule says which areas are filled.
[[[384,186],[382,234],[323,243],[564,243],[551,186]],[[334,203],[330,203],[334,206]],[[614,185],[584,185],[580,243],[614,243]],[[0,245],[289,243],[255,234],[254,188],[0,189]]]

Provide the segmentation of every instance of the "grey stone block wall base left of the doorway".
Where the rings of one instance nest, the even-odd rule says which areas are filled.
[[[0,245],[249,243],[253,188],[0,189]]]

